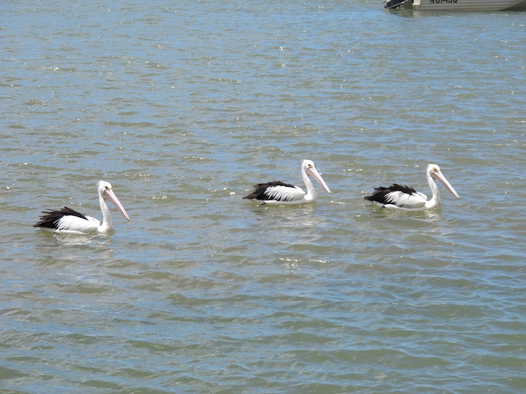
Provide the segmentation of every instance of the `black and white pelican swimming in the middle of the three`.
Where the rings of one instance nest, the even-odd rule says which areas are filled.
[[[314,190],[309,175],[316,179],[323,189],[327,190],[327,193],[330,194],[327,184],[314,167],[314,163],[310,160],[303,160],[301,162],[301,177],[305,182],[305,186],[307,186],[307,193],[301,188],[298,188],[298,186],[281,181],[272,181],[254,185],[254,191],[243,199],[262,200],[259,205],[297,205],[313,202],[316,200],[316,190]]]

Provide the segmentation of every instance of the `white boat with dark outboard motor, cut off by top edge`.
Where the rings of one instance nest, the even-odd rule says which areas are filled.
[[[390,0],[383,8],[420,11],[526,11],[526,0]]]

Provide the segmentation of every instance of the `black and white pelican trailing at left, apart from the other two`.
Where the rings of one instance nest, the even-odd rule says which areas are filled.
[[[127,220],[130,220],[123,205],[119,202],[117,196],[113,192],[112,185],[105,181],[99,181],[98,194],[100,210],[102,211],[103,216],[102,223],[94,217],[83,215],[82,213],[65,206],[59,211],[42,211],[44,215],[40,216],[40,221],[33,227],[38,227],[44,231],[57,234],[82,235],[107,233],[113,229],[113,223],[106,200],[111,201],[113,205],[115,205],[115,208],[117,208]]]

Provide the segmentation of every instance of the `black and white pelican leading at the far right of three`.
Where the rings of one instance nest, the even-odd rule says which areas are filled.
[[[371,195],[366,195],[364,199],[371,201],[382,209],[398,210],[398,211],[427,211],[429,209],[437,208],[440,205],[440,192],[434,179],[438,179],[446,189],[456,198],[460,199],[457,192],[444,178],[440,167],[437,164],[428,164],[426,169],[429,187],[431,188],[431,200],[428,201],[427,195],[422,194],[406,185],[399,185],[398,183],[384,188],[380,186],[375,188]]]

